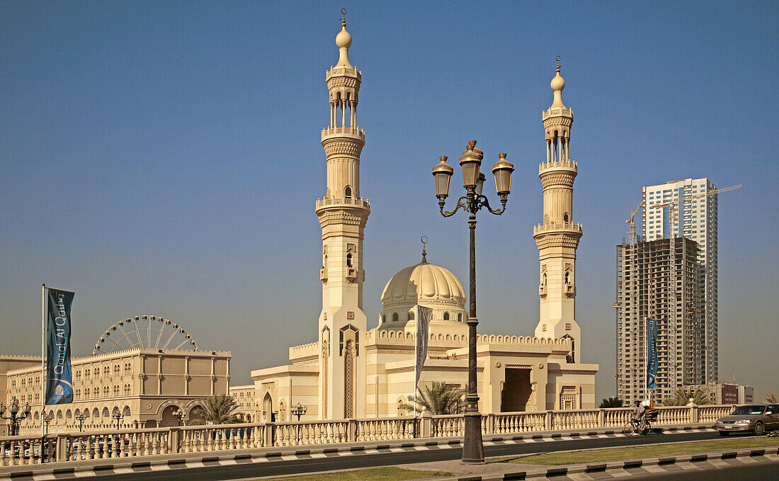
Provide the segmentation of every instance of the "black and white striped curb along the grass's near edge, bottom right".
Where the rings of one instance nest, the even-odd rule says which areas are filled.
[[[509,481],[533,479],[534,481],[589,481],[594,479],[619,479],[628,476],[661,474],[692,469],[717,469],[755,463],[779,462],[779,446],[753,447],[735,451],[698,454],[679,454],[659,458],[629,459],[626,461],[596,462],[584,465],[545,467],[527,471],[490,475],[465,475],[445,478],[442,481]]]

